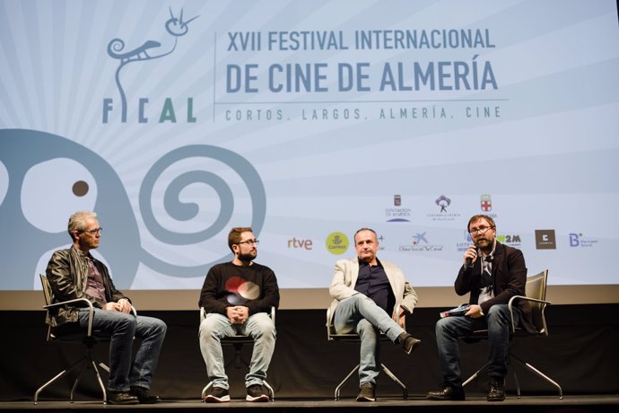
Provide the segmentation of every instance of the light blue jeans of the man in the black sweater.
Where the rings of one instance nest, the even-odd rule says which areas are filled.
[[[230,388],[223,363],[221,339],[235,334],[247,334],[254,338],[254,349],[251,353],[249,373],[245,376],[245,387],[262,384],[266,379],[266,370],[275,351],[275,323],[271,317],[266,312],[257,312],[250,315],[244,324],[232,324],[225,315],[210,313],[206,314],[205,320],[200,323],[198,338],[200,351],[205,359],[206,373],[214,387]]]

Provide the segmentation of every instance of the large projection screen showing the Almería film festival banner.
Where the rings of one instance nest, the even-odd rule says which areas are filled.
[[[284,308],[327,305],[361,227],[459,303],[476,214],[559,303],[619,298],[614,0],[0,7],[1,309],[40,308],[77,210],[143,308],[196,308],[233,226]]]

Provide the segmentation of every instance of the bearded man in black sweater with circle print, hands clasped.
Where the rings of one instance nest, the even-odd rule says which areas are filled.
[[[202,286],[198,304],[206,315],[200,322],[200,351],[213,383],[204,398],[207,403],[230,401],[221,338],[235,334],[254,338],[245,400],[270,400],[264,382],[275,350],[275,321],[269,313],[279,306],[279,287],[273,270],[254,262],[257,244],[251,228],[232,228],[228,246],[234,258],[209,269]]]

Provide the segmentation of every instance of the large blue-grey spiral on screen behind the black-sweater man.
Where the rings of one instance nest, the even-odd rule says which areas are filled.
[[[164,228],[153,213],[153,189],[163,171],[179,161],[200,157],[210,158],[223,163],[241,178],[251,199],[252,218],[250,226],[253,228],[254,233],[260,233],[266,216],[266,193],[260,176],[253,165],[240,156],[240,154],[212,145],[179,147],[163,155],[146,173],[140,187],[139,200],[140,212],[148,231],[160,242],[170,245],[190,245],[209,240],[227,229],[234,212],[233,192],[228,182],[212,171],[196,170],[180,173],[179,176],[170,181],[163,195],[165,212],[173,219],[188,221],[196,217],[199,212],[199,206],[193,203],[182,202],[179,197],[180,192],[187,188],[187,186],[195,183],[208,185],[217,194],[221,206],[218,215],[210,226],[204,229],[197,229],[194,232],[179,233]],[[228,174],[229,171],[225,172]],[[227,250],[227,246],[222,245],[223,249]],[[224,258],[222,257],[222,259]],[[161,271],[164,274],[174,274],[178,277],[196,277],[203,275],[211,265],[222,259],[216,259],[197,267],[182,267],[164,262],[144,251],[142,261],[148,267]]]

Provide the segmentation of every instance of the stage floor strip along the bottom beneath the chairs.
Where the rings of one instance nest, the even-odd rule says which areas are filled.
[[[358,411],[359,409],[372,409],[374,411],[403,411],[414,409],[415,412],[451,412],[458,409],[460,412],[479,411],[521,411],[527,413],[585,413],[585,412],[609,412],[615,411],[619,406],[619,395],[596,395],[596,396],[565,396],[560,400],[556,396],[528,396],[521,399],[509,397],[502,402],[490,403],[484,397],[468,397],[466,401],[432,401],[425,400],[422,396],[409,397],[409,400],[379,399],[370,403],[359,403],[352,398],[343,400],[300,400],[300,399],[277,399],[268,403],[249,403],[245,400],[231,400],[229,403],[208,403],[200,400],[162,400],[153,405],[135,406],[111,406],[104,405],[97,400],[78,400],[74,403],[68,401],[39,400],[35,406],[32,401],[5,401],[0,402],[0,410],[39,410],[39,411],[117,411],[117,410],[157,410],[160,412],[182,409],[185,412],[210,409],[213,411],[243,412],[249,409],[268,409],[270,412],[291,412],[302,410],[306,412],[328,411]]]

